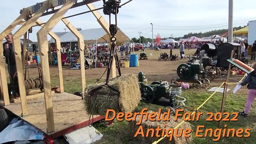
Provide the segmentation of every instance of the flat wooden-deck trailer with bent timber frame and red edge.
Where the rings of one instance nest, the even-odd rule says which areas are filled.
[[[23,119],[27,123],[34,126],[39,131],[42,131],[45,135],[45,140],[52,143],[52,139],[58,138],[59,136],[73,132],[82,127],[88,126],[93,122],[100,121],[105,118],[102,115],[91,115],[84,110],[84,103],[82,101],[83,93],[79,96],[70,94],[64,91],[63,76],[62,76],[62,65],[61,65],[61,53],[60,53],[60,38],[53,33],[52,29],[57,25],[58,22],[62,21],[66,27],[77,37],[78,39],[78,50],[81,54],[81,91],[85,91],[85,66],[84,66],[84,38],[79,31],[68,21],[67,17],[64,17],[65,13],[69,9],[73,9],[78,6],[86,5],[90,11],[79,13],[92,12],[94,17],[100,23],[100,26],[110,35],[109,25],[107,21],[100,15],[100,13],[94,7],[92,3],[100,0],[70,0],[70,1],[58,1],[58,0],[47,0],[42,3],[37,3],[33,6],[22,9],[20,15],[15,19],[9,27],[7,27],[0,34],[0,39],[4,39],[6,35],[10,34],[11,31],[21,25],[21,27],[13,34],[13,49],[15,51],[15,62],[18,72],[18,87],[19,87],[19,103],[10,103],[5,62],[3,57],[3,45],[0,45],[0,93],[3,97],[3,101],[0,101],[0,108],[5,109],[9,113]],[[101,8],[103,9],[103,8]],[[105,11],[106,12],[106,11]],[[44,15],[51,15],[51,18],[46,22],[41,21],[39,18]],[[70,15],[74,17],[76,15]],[[68,17],[68,18],[69,18]],[[20,37],[24,36],[29,29],[35,26],[41,26],[42,28],[37,33],[39,55],[41,57],[41,68],[42,68],[42,82],[43,82],[43,94],[40,96],[30,95],[27,97],[24,73],[22,65],[21,45]],[[47,35],[50,35],[55,40],[55,47],[57,49],[58,58],[58,74],[59,74],[59,85],[60,93],[54,93],[51,90],[51,77],[49,68],[48,51],[49,45],[47,41]],[[118,33],[117,33],[118,35]],[[114,62],[115,63],[115,62]],[[112,69],[112,76],[116,77],[116,67]],[[82,96],[82,97],[81,97]]]

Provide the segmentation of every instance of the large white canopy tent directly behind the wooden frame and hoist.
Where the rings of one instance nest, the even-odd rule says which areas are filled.
[[[97,43],[103,43],[109,41],[109,36],[103,28],[79,30],[79,32],[83,35],[85,43],[95,43],[96,41]],[[57,33],[57,35],[59,36],[61,43],[77,42],[77,38],[73,33],[71,33],[71,31],[66,32],[65,34]],[[127,41],[131,41],[131,39],[118,28],[116,42]],[[50,43],[55,43],[53,38],[50,39]]]

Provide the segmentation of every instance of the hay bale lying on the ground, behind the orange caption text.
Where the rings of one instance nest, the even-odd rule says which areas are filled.
[[[150,114],[152,111],[149,111],[148,113]],[[162,117],[162,116],[161,116]],[[129,133],[131,134],[132,137],[134,137],[134,134],[137,132],[137,130],[139,129],[140,125],[136,125],[136,123],[139,122],[140,119],[140,115],[138,115],[136,117],[136,121],[131,121],[129,122]],[[170,128],[174,128],[175,126],[177,126],[179,123],[181,123],[182,120],[178,119],[177,122],[174,121],[174,116],[170,115],[170,121],[155,121],[155,122],[151,122],[151,121],[145,121],[145,118],[142,119],[142,127],[143,127],[143,132],[146,135],[147,129],[156,129],[157,126],[159,126],[160,129],[170,129]],[[164,125],[166,125],[166,127],[164,127]],[[185,130],[185,129],[191,129],[191,126],[188,122],[184,122],[183,124],[181,124],[179,127],[179,132],[181,129]],[[162,131],[161,131],[162,134]],[[151,133],[149,135],[149,137],[141,137],[141,135],[139,134],[136,139],[140,142],[140,143],[153,143],[156,140],[159,140],[160,138],[156,137],[156,132],[154,133],[154,137],[150,137]],[[168,137],[164,138],[163,140],[161,140],[159,142],[160,143],[173,143],[173,144],[185,144],[185,143],[191,143],[192,141],[192,135],[189,138],[184,137],[184,135],[182,134],[182,136],[180,138],[174,137],[172,138],[172,141],[169,140]]]

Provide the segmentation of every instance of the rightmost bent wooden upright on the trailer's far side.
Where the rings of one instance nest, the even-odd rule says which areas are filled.
[[[80,69],[81,69],[81,85],[82,93],[85,91],[86,81],[85,81],[85,66],[84,66],[84,37],[79,31],[67,20],[62,19],[67,28],[77,37],[78,49],[80,55]]]

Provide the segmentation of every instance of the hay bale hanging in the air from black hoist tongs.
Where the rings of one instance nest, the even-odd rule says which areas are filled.
[[[133,74],[125,74],[121,77],[112,78],[109,86],[105,83],[87,86],[84,93],[86,110],[93,115],[106,115],[107,109],[114,109],[118,112],[132,112],[139,104],[141,99],[138,77]],[[101,86],[101,89],[91,93],[91,90]]]

